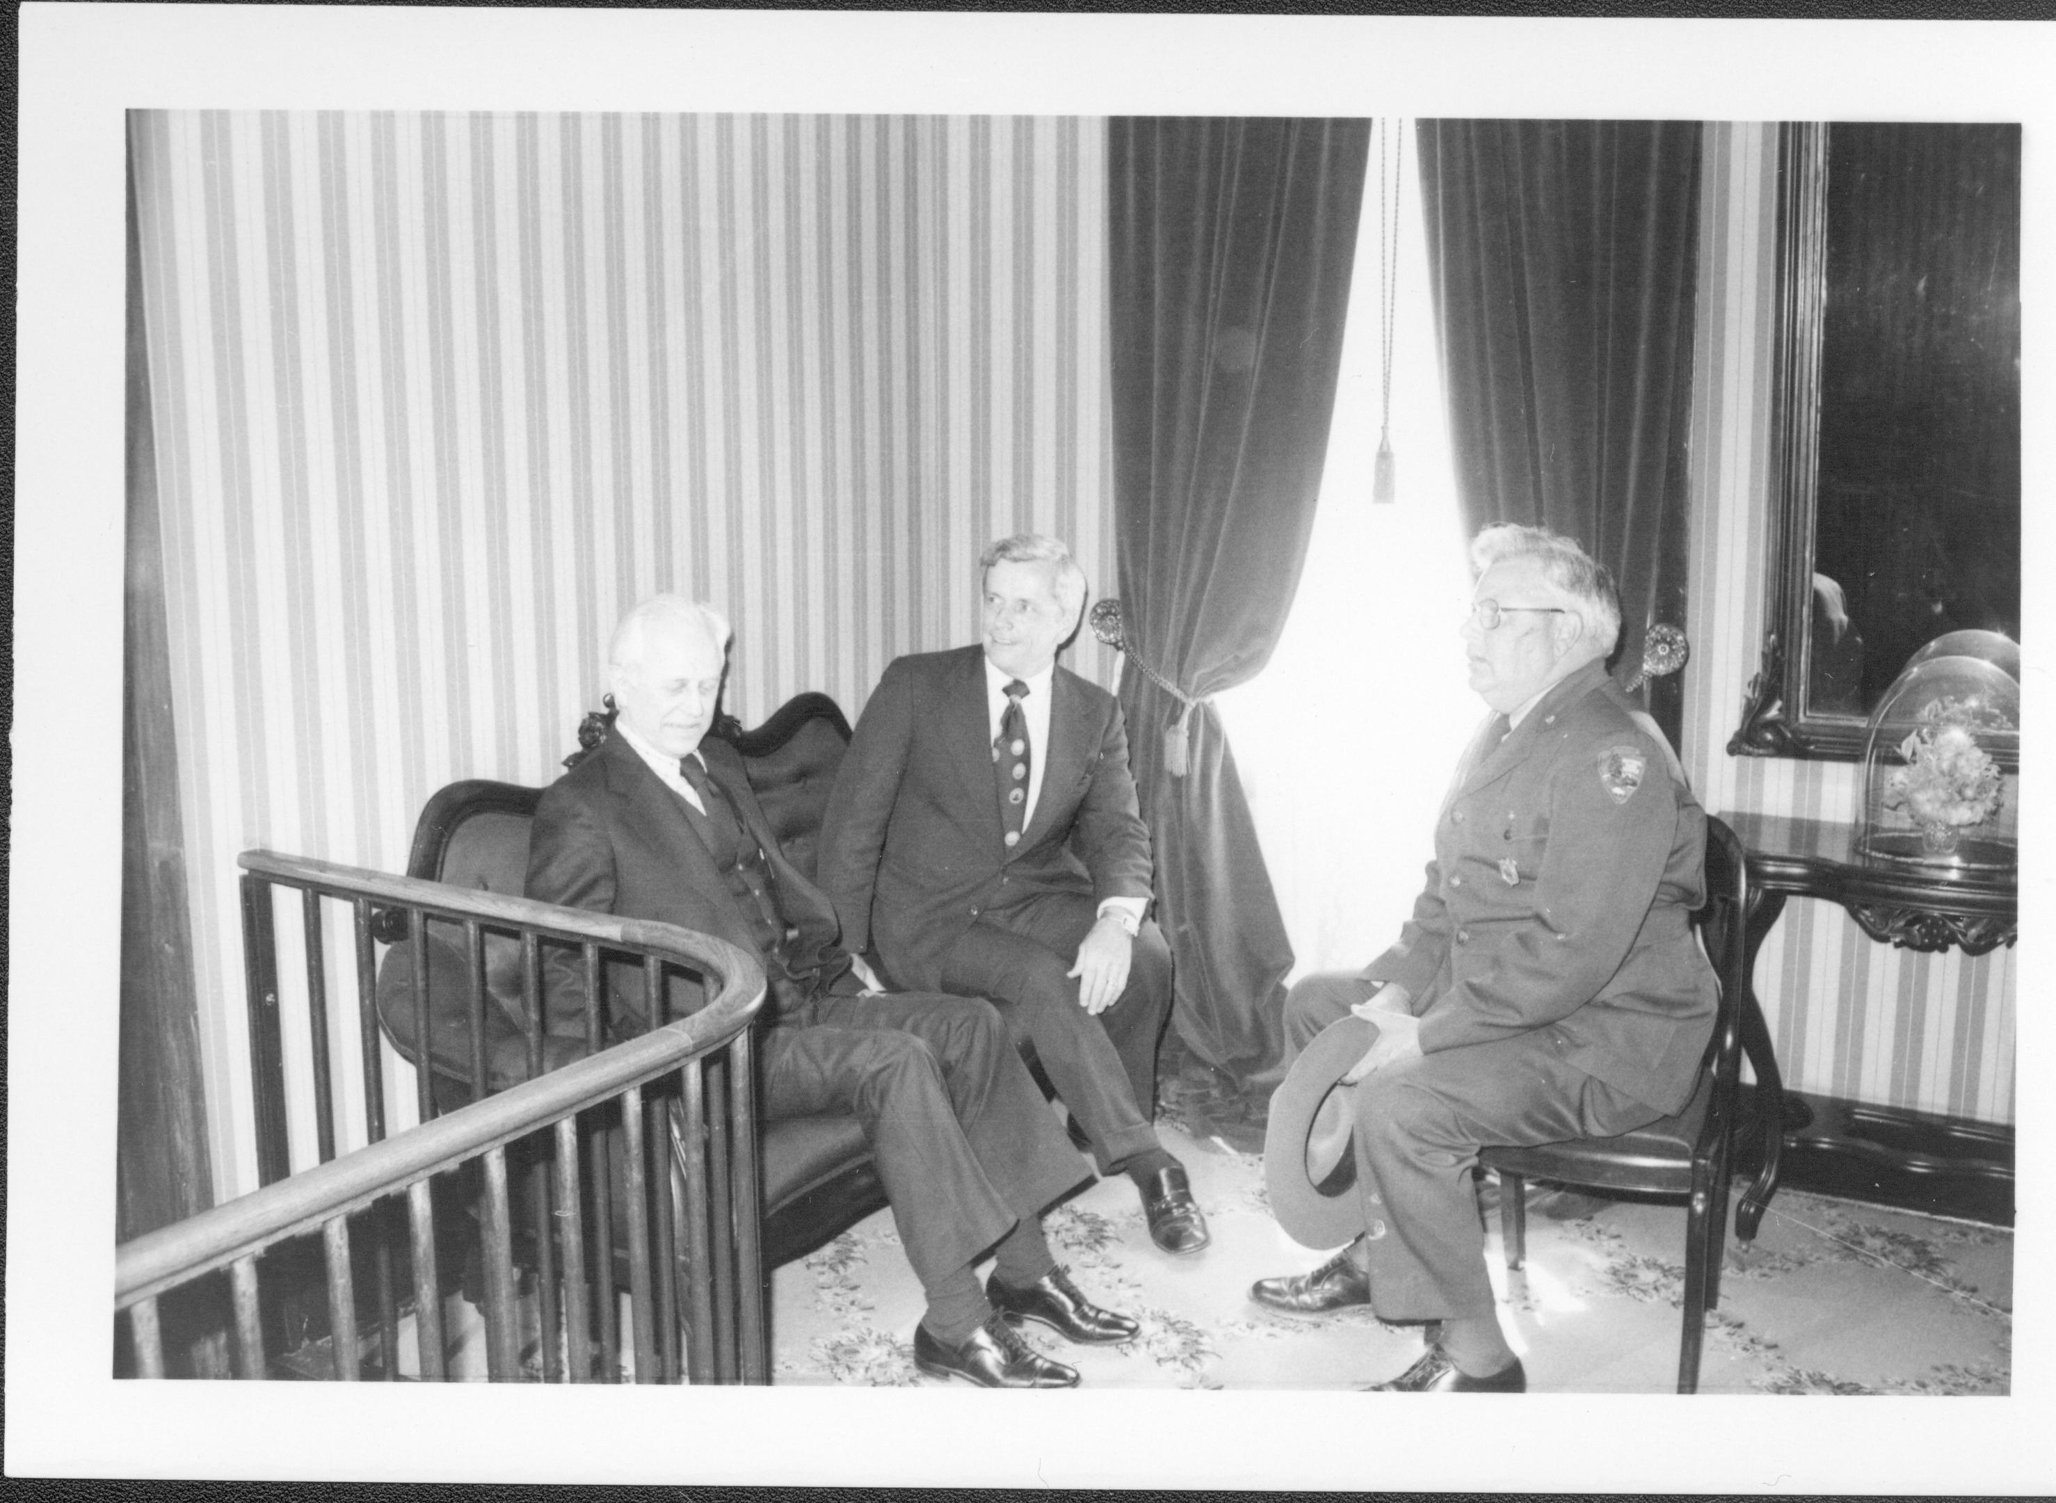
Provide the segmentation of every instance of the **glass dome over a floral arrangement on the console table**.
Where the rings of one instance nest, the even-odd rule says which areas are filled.
[[[2019,864],[2021,685],[1998,633],[1966,652],[1914,654],[1871,713],[1863,742],[1863,835],[1871,862],[1926,872]],[[1957,644],[1949,644],[1957,646]],[[1998,658],[1998,660],[1994,660]]]

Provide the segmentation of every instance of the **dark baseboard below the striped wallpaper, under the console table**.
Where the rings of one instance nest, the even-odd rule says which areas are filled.
[[[1785,1092],[1778,1184],[2013,1225],[2013,1129]]]

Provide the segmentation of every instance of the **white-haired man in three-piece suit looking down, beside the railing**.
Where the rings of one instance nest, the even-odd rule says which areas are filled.
[[[742,759],[703,740],[726,670],[728,623],[674,594],[623,617],[609,652],[619,718],[545,790],[528,896],[718,936],[755,954],[769,999],[757,1055],[765,1116],[849,1112],[864,1125],[901,1244],[927,1293],[915,1363],[987,1388],[1069,1388],[1077,1371],[1024,1343],[1038,1320],[1081,1343],[1137,1324],[1088,1302],[1042,1240],[1040,1211],[1079,1162],[991,1005],[886,995],[837,944],[829,899],[779,851]],[[549,1007],[576,1030],[576,956],[553,956]],[[609,977],[615,1036],[699,1003],[681,977],[652,1005],[639,968]],[[997,1246],[985,1289],[972,1262]]]

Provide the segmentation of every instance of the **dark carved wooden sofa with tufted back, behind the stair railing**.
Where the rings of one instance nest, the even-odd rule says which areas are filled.
[[[588,716],[580,755],[600,742],[611,716]],[[804,693],[752,732],[722,716],[709,734],[722,736],[748,769],[750,785],[779,837],[785,857],[814,876],[820,818],[835,771],[849,744],[849,722],[833,699]],[[471,779],[450,783],[421,810],[407,874],[456,886],[522,894],[528,872],[528,822],[543,790]],[[407,956],[389,952],[378,975],[378,1016],[395,1049],[419,1067]],[[399,956],[399,958],[395,958]],[[463,966],[446,952],[440,964]],[[518,946],[485,942],[485,1073],[489,1090],[528,1077],[528,1034]],[[438,1110],[473,1096],[471,1018],[465,1016],[463,975],[432,983],[430,1069]],[[584,1053],[553,1040],[543,1067],[555,1069]],[[765,1123],[759,1137],[763,1267],[804,1256],[886,1203],[878,1172],[851,1116],[798,1116]]]

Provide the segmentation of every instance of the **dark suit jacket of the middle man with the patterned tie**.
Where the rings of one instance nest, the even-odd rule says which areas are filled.
[[[933,991],[977,919],[1044,892],[1149,896],[1121,701],[1051,674],[1034,818],[1009,851],[993,794],[985,650],[898,658],[872,693],[820,827],[820,886],[843,942],[874,948],[894,985]]]

